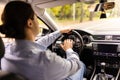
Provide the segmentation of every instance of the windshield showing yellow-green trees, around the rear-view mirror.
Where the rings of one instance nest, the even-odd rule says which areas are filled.
[[[102,13],[106,14],[106,19],[120,17],[120,0],[107,0],[107,2],[115,2],[115,7],[113,9],[105,10],[104,12],[91,11],[91,7],[98,4],[99,1],[96,1],[94,4],[79,2],[64,6],[57,6],[47,8],[46,11],[58,24],[58,28],[65,28],[79,23],[99,20]]]

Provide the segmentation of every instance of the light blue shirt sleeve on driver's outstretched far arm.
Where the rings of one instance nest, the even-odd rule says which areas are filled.
[[[61,35],[60,31],[55,31],[46,36],[41,37],[37,40],[37,43],[47,48],[50,44],[52,44],[59,36]]]

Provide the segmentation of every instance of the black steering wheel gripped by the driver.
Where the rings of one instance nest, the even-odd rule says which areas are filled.
[[[69,34],[62,34],[62,36],[60,36],[52,45],[52,51],[56,52],[61,57],[66,58],[65,51],[60,47],[60,44],[65,39],[72,39],[74,41],[73,50],[80,55],[84,47],[84,42],[82,36],[76,30],[72,30]]]

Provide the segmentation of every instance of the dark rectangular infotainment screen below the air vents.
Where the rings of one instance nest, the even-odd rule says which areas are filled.
[[[97,44],[97,51],[103,53],[117,53],[118,45],[115,44]]]

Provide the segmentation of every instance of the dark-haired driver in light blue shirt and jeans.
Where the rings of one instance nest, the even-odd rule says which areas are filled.
[[[55,31],[35,41],[39,33],[37,17],[31,5],[22,1],[11,1],[5,6],[2,22],[0,31],[15,39],[6,48],[1,60],[2,70],[23,75],[28,80],[83,80],[85,66],[72,50],[72,40],[61,44],[66,59],[47,49],[71,29]]]

